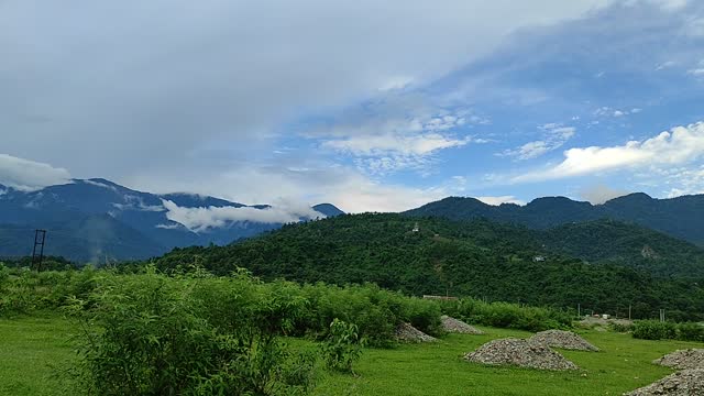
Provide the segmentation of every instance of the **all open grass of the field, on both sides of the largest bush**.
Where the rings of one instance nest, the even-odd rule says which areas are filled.
[[[326,374],[316,395],[620,395],[657,381],[670,370],[650,361],[678,349],[679,341],[634,340],[627,334],[586,331],[603,352],[562,353],[582,371],[571,373],[490,367],[461,356],[482,343],[530,333],[484,329],[485,336],[452,334],[436,344],[365,350],[356,376]],[[61,318],[0,319],[0,395],[61,395],[57,367],[74,358],[68,342],[76,326]],[[290,340],[299,348],[315,348]]]

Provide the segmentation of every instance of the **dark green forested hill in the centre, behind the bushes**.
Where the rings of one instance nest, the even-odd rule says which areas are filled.
[[[415,226],[418,231],[414,231]],[[163,270],[237,267],[264,279],[376,283],[411,295],[450,294],[531,305],[582,307],[639,316],[704,311],[694,280],[590,264],[542,248],[540,234],[485,220],[453,222],[402,215],[354,215],[285,226],[228,246],[177,249],[155,261]]]

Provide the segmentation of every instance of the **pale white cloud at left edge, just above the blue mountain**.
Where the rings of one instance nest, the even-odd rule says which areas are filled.
[[[0,154],[0,184],[23,191],[42,189],[46,186],[72,183],[70,174],[64,168],[48,164]]]

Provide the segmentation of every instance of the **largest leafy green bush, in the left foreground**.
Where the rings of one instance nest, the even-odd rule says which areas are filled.
[[[307,391],[312,361],[278,340],[278,317],[288,302],[264,297],[254,315],[216,321],[202,311],[212,279],[168,278],[148,273],[108,276],[94,294],[95,309],[80,348],[78,383],[100,395],[289,395]],[[244,279],[233,282],[245,294]],[[216,287],[222,292],[222,287]],[[198,290],[199,293],[196,293]],[[75,311],[85,301],[74,299]],[[218,304],[218,300],[212,300]],[[227,326],[224,326],[227,324]]]

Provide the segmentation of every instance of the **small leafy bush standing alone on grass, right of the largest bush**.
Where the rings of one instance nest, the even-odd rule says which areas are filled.
[[[336,318],[321,351],[329,369],[352,373],[352,364],[362,356],[362,344],[358,327]]]

